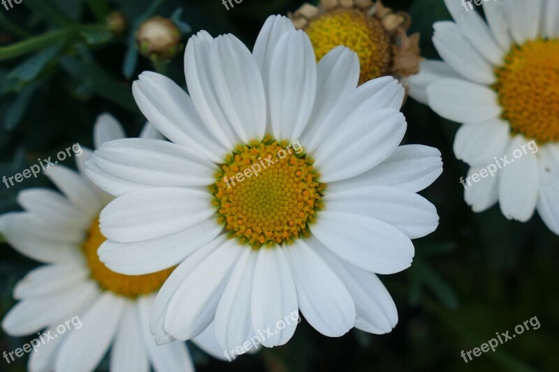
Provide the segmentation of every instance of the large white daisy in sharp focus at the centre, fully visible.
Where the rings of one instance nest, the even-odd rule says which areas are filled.
[[[373,273],[409,267],[410,239],[435,230],[437,211],[416,192],[442,172],[437,149],[398,146],[402,86],[357,87],[346,47],[317,66],[308,36],[279,16],[252,53],[199,32],[184,64],[190,96],[156,73],[133,85],[174,143],[109,142],[87,162],[119,195],[101,212],[101,261],[124,274],[178,265],[152,311],[157,340],[214,322],[224,350],[268,329],[260,341],[273,347],[296,328],[277,322],[299,309],[326,336],[390,332],[395,304]]]

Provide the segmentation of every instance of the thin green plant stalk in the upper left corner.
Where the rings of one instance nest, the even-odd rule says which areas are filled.
[[[20,57],[29,52],[34,52],[45,47],[50,47],[55,43],[61,41],[68,41],[71,38],[78,37],[82,31],[103,31],[106,29],[104,26],[99,25],[82,25],[66,27],[64,29],[57,29],[55,31],[47,32],[46,34],[34,36],[27,40],[22,40],[19,43],[0,47],[0,61]]]

